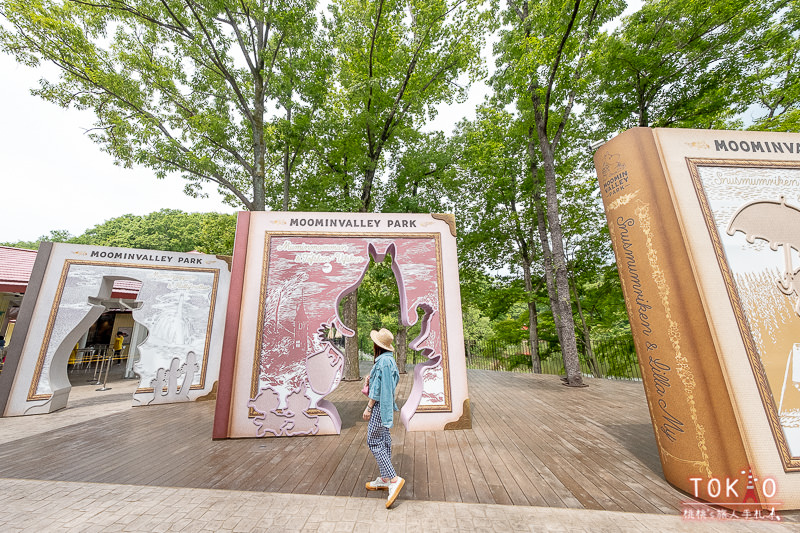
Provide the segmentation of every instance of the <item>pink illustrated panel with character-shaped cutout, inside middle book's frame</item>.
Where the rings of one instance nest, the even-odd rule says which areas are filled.
[[[297,434],[287,428],[289,419],[299,415],[303,418],[295,425],[308,430],[303,434],[316,433],[315,429],[309,429],[313,420],[303,412],[310,408],[328,413],[337,432],[340,429],[338,413],[323,397],[339,384],[344,356],[327,340],[327,333],[335,326],[345,336],[354,334],[344,327],[338,306],[361,283],[370,255],[379,262],[387,254],[393,258],[402,322],[411,326],[417,320],[417,309],[425,311],[422,331],[410,346],[421,350],[430,361],[417,368],[415,374],[419,375],[409,402],[415,406],[446,406],[449,384],[440,364],[439,316],[443,304],[435,238],[430,235],[317,237],[289,233],[271,234],[267,238],[258,375],[254,383],[256,394],[250,402],[261,413],[254,420],[260,435]]]

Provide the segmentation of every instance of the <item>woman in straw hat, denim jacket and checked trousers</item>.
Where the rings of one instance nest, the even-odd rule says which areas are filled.
[[[405,480],[397,475],[392,466],[392,436],[389,428],[394,423],[394,411],[398,411],[394,402],[394,391],[400,374],[397,363],[394,362],[394,336],[386,328],[380,331],[372,330],[369,334],[374,343],[373,351],[375,364],[367,378],[369,385],[369,404],[364,409],[362,418],[368,420],[367,446],[378,462],[380,476],[375,481],[367,482],[367,490],[388,490],[389,498],[386,508],[392,506]]]

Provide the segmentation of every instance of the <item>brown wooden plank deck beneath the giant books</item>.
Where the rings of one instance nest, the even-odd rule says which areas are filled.
[[[641,383],[469,371],[473,428],[392,429],[401,498],[677,514]],[[410,390],[401,378],[398,404]],[[338,436],[213,441],[213,402],[131,408],[0,446],[0,477],[339,496],[367,493],[361,383],[328,396]],[[29,417],[31,423],[39,417]]]

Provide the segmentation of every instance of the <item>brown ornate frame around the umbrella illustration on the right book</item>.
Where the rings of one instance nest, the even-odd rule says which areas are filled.
[[[800,471],[800,457],[792,457],[789,452],[789,445],[786,442],[786,436],[783,433],[783,427],[780,423],[780,416],[778,408],[775,405],[775,398],[769,387],[767,379],[767,372],[761,362],[761,356],[756,348],[755,339],[750,329],[750,324],[747,321],[747,316],[744,313],[744,306],[742,305],[739,291],[733,280],[730,265],[725,257],[725,252],[722,247],[722,240],[719,236],[716,224],[714,224],[714,216],[711,212],[711,206],[708,202],[703,183],[700,181],[699,167],[736,167],[736,168],[787,168],[787,169],[800,169],[800,163],[793,161],[758,161],[747,159],[702,159],[702,158],[685,158],[686,164],[689,167],[689,174],[694,184],[697,198],[700,201],[700,208],[703,213],[703,219],[706,223],[711,242],[714,246],[714,254],[719,263],[722,279],[725,283],[725,288],[728,291],[728,297],[733,305],[733,312],[736,317],[736,325],[739,328],[739,333],[742,336],[742,342],[747,353],[747,359],[750,361],[750,368],[753,371],[753,377],[756,380],[758,393],[761,396],[761,401],[764,404],[764,410],[767,414],[770,429],[772,430],[772,437],[775,439],[775,445],[778,448],[778,454],[783,463],[783,469],[786,472]]]

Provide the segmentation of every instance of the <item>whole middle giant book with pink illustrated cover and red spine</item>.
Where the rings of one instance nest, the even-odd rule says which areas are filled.
[[[399,320],[420,326],[409,349],[422,362],[395,420],[409,431],[469,427],[452,215],[243,212],[214,438],[340,432],[325,399],[342,379],[337,339],[355,335],[340,304],[370,258],[390,261]]]

